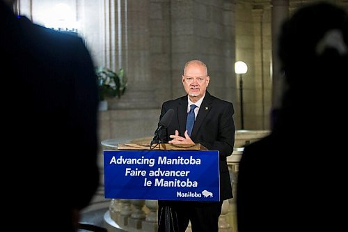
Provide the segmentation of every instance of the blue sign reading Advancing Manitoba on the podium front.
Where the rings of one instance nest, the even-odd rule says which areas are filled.
[[[219,151],[104,150],[106,199],[220,201]]]

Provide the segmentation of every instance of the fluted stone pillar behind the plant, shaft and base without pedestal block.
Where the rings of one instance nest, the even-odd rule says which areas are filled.
[[[122,98],[109,99],[109,109],[155,109],[150,72],[150,1],[104,2],[104,63],[124,70],[127,89]]]

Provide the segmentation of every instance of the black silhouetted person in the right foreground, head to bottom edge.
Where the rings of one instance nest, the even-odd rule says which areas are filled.
[[[283,105],[274,111],[271,134],[244,149],[238,231],[340,231],[347,198],[347,13],[329,3],[304,6],[283,24],[278,42]]]

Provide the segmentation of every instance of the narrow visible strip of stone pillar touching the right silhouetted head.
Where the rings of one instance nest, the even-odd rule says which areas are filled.
[[[281,64],[278,58],[278,36],[280,26],[289,16],[288,0],[272,0],[271,10],[271,27],[272,27],[272,108],[277,109],[281,104],[281,96],[283,93],[282,75],[280,73]]]

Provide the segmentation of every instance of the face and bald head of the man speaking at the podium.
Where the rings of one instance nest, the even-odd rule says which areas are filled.
[[[187,65],[182,75],[182,84],[191,101],[199,100],[205,94],[209,84],[207,68],[199,63]]]

